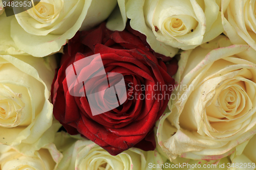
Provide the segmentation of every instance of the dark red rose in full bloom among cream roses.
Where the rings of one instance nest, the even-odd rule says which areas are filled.
[[[55,118],[71,135],[80,133],[111,155],[117,155],[132,147],[145,151],[155,149],[153,128],[167,106],[172,92],[170,86],[175,82],[172,75],[167,73],[165,63],[161,58],[155,57],[150,47],[137,35],[138,32],[134,35],[131,29],[128,30],[130,32],[112,32],[102,23],[94,30],[78,32],[69,40],[52,85]],[[100,54],[105,72],[119,73],[123,77],[126,92],[124,97],[127,98],[119,107],[98,115],[92,114],[88,95],[74,96],[72,93],[76,91],[82,94],[84,90],[86,94],[88,90],[101,91],[95,95],[93,101],[101,109],[102,106],[110,106],[111,102],[105,100],[104,96],[113,93],[109,90],[110,86],[117,83],[112,81],[113,77],[108,74],[109,86],[102,84],[104,80],[99,76],[97,80],[90,81],[90,89],[84,89],[88,82],[72,89],[70,83],[67,83],[71,76],[69,72],[66,76],[66,69],[71,68],[74,62],[94,54]],[[77,76],[88,79],[93,77],[98,71],[96,62],[95,59],[90,60],[89,66],[80,64]],[[173,69],[169,67],[168,72],[174,74],[177,71],[177,61],[169,62]],[[75,83],[74,79],[73,85]],[[74,91],[70,92],[71,89]],[[118,86],[115,90],[116,93],[120,92]],[[117,97],[116,93],[112,96],[113,99]],[[146,98],[143,99],[143,96]]]

